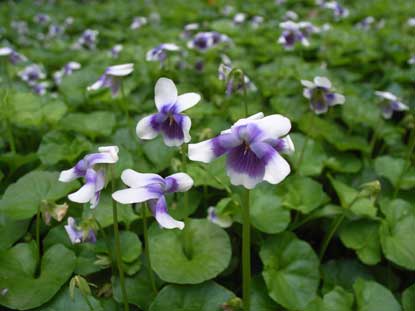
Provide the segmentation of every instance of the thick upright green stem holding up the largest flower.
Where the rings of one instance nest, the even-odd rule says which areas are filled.
[[[250,233],[250,192],[245,190],[244,202],[242,202],[242,297],[244,311],[249,311],[251,306],[251,233]]]

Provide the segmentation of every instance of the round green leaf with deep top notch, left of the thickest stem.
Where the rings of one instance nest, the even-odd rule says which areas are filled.
[[[216,277],[227,268],[231,244],[223,229],[205,219],[188,224],[191,254],[183,249],[183,231],[160,229],[153,224],[149,232],[153,269],[166,282],[197,284]]]

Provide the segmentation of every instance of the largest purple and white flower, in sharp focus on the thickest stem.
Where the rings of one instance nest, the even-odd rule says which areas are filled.
[[[260,112],[237,121],[215,138],[190,144],[189,159],[209,163],[226,155],[226,171],[233,185],[253,189],[262,181],[278,184],[291,171],[281,156],[294,151],[287,135],[290,129],[291,122],[286,117],[264,117]]]

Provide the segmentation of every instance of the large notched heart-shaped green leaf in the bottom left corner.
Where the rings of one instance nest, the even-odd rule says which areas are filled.
[[[35,277],[37,252],[32,251],[30,256],[26,252],[22,257],[20,251],[16,253],[16,247],[0,253],[0,284],[8,288],[7,294],[0,296],[0,305],[17,310],[39,307],[72,275],[75,255],[63,245],[52,246],[42,257],[40,276]]]

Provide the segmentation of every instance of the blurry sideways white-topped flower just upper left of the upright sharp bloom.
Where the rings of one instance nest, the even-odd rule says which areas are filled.
[[[123,64],[110,66],[105,69],[104,74],[92,85],[87,87],[88,91],[96,91],[102,88],[110,88],[114,97],[120,90],[122,77],[128,76],[134,71],[134,64]]]

